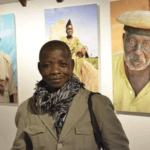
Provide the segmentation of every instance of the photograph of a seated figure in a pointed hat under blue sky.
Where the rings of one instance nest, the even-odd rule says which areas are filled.
[[[75,62],[73,73],[88,90],[98,92],[97,5],[45,10],[46,41],[65,42]]]

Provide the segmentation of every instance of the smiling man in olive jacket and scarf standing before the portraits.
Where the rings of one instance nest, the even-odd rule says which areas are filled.
[[[43,79],[34,95],[18,108],[12,150],[97,150],[88,109],[90,91],[72,74],[69,47],[50,41],[41,48],[39,59]],[[92,101],[105,149],[129,150],[110,100],[95,94]]]

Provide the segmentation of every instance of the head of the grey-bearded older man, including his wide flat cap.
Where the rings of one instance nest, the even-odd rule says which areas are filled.
[[[150,12],[129,11],[117,17],[124,24],[124,60],[130,70],[150,65]],[[147,24],[148,23],[148,24]]]

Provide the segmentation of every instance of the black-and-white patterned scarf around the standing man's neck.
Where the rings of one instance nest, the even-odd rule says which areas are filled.
[[[81,87],[84,88],[84,84],[75,75],[54,93],[50,92],[43,80],[36,84],[34,102],[37,107],[50,111],[57,134],[60,134],[71,102]]]

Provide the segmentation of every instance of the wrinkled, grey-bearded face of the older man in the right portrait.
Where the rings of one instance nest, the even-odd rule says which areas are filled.
[[[140,71],[150,64],[150,37],[125,33],[124,59],[130,70]]]

